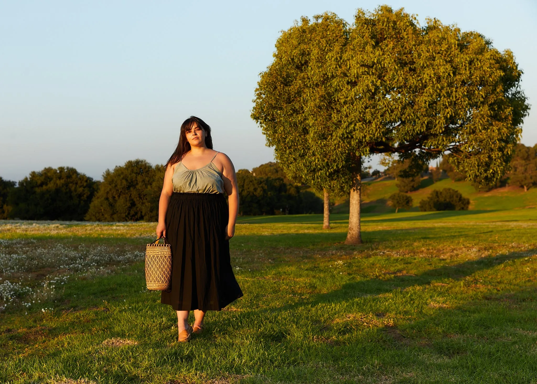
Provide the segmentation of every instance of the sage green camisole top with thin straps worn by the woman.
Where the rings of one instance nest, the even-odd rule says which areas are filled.
[[[219,152],[216,152],[216,155]],[[188,169],[179,162],[175,166],[171,181],[174,192],[187,193],[224,193],[224,182],[222,173],[214,164],[213,160],[205,167],[198,169]]]

